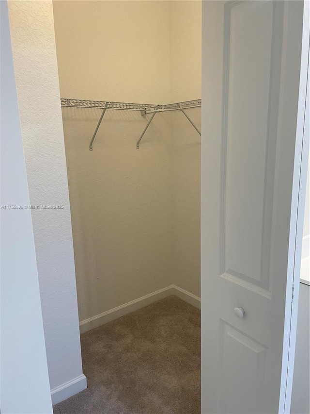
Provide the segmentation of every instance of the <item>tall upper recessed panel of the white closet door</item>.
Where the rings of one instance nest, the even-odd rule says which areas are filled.
[[[222,273],[268,289],[271,228],[266,213],[272,189],[268,193],[266,183],[267,173],[274,171],[270,152],[276,139],[270,137],[268,114],[272,93],[279,96],[279,83],[270,78],[279,70],[280,56],[272,49],[282,28],[273,22],[271,1],[228,3],[224,14]]]

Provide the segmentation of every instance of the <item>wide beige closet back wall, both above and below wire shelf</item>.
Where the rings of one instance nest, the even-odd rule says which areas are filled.
[[[169,102],[169,3],[55,1],[63,97]],[[62,108],[78,287],[85,320],[170,285],[169,115]]]

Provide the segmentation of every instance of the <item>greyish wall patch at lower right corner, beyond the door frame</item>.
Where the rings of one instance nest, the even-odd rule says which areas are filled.
[[[310,286],[300,283],[292,414],[310,413]]]

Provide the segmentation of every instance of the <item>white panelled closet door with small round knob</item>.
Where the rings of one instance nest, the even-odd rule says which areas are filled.
[[[309,14],[202,4],[202,413],[289,412]]]

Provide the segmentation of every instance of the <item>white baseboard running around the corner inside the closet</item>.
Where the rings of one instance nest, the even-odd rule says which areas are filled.
[[[164,287],[163,289],[142,296],[141,298],[131,300],[130,302],[124,303],[124,305],[117,306],[116,308],[110,309],[109,311],[103,312],[102,314],[82,320],[79,323],[80,333],[84,333],[93,328],[97,328],[98,326],[104,325],[105,323],[117,319],[120,316],[130,314],[137,309],[157,302],[157,300],[167,298],[170,295],[175,295],[200,309],[200,298],[198,298],[198,296],[195,296],[192,293],[187,292],[186,290],[172,284],[170,286]]]

